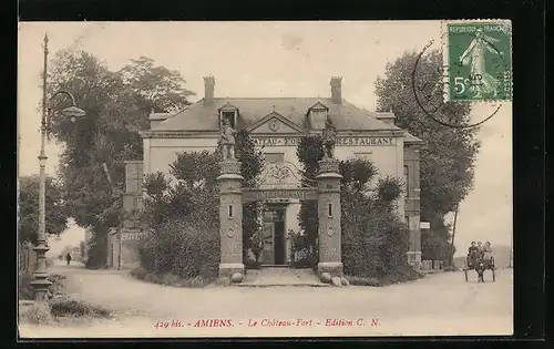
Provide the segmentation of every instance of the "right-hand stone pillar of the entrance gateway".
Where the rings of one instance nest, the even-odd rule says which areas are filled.
[[[340,179],[339,162],[324,158],[319,162],[318,219],[319,219],[319,264],[318,274],[342,277],[340,250]]]

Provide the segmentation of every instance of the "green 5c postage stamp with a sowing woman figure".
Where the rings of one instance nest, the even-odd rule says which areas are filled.
[[[511,21],[445,21],[442,34],[447,101],[512,101]]]

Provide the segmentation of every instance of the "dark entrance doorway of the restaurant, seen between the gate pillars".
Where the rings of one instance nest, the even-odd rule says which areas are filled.
[[[264,212],[264,252],[261,253],[263,266],[283,266],[287,264],[286,205],[266,205]]]

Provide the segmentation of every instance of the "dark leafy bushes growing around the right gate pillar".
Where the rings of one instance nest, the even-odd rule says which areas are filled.
[[[321,137],[304,137],[297,156],[302,175],[315,178],[318,161],[322,157]],[[341,179],[342,263],[345,273],[357,277],[383,278],[408,266],[406,253],[409,233],[397,214],[396,201],[402,183],[387,176],[377,182],[377,195],[370,195],[369,184],[378,168],[362,158],[348,158],[339,163]],[[308,181],[307,181],[308,182]],[[308,183],[306,183],[307,185]],[[302,202],[299,220],[304,234],[293,234],[294,250],[315,250],[317,256],[317,202]],[[317,264],[316,258],[311,258]]]

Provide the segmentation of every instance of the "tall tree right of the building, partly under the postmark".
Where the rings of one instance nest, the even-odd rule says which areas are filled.
[[[422,236],[423,259],[448,256],[449,227],[444,216],[454,211],[473,187],[473,168],[479,152],[476,127],[453,129],[431,120],[421,105],[447,123],[468,125],[470,105],[444,103],[442,57],[433,51],[419,64],[417,52],[404,53],[387,65],[376,83],[378,109],[392,110],[397,125],[424,141],[421,148],[421,219],[431,223],[429,235]],[[412,89],[412,74],[414,85]],[[414,93],[418,93],[421,105]]]

